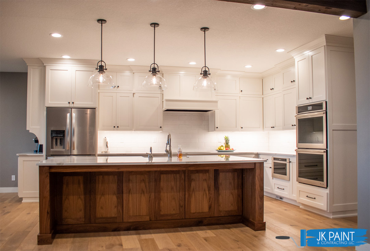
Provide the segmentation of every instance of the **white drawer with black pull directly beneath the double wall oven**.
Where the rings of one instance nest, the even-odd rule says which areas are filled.
[[[327,210],[327,192],[297,187],[297,201],[302,204]]]

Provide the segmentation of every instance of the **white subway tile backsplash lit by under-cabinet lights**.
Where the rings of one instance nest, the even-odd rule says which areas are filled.
[[[172,152],[178,145],[186,151],[214,151],[229,135],[230,145],[237,151],[294,151],[295,130],[257,132],[209,132],[208,113],[164,112],[163,131],[98,131],[98,153],[106,151],[103,143],[108,138],[110,153],[164,153],[167,133],[171,133]],[[221,142],[219,142],[221,141]]]

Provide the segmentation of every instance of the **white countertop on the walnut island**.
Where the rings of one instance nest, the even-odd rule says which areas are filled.
[[[154,157],[149,162],[148,157],[139,156],[64,156],[51,157],[37,165],[164,165],[164,164],[214,164],[214,163],[253,163],[265,162],[266,160],[258,158],[248,158],[239,156],[230,156],[230,158],[220,157],[218,155],[194,155],[184,158],[172,157]]]

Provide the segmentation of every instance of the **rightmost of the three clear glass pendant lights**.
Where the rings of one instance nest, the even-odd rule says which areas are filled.
[[[201,69],[202,76],[196,80],[193,91],[217,91],[217,84],[209,76],[211,73],[209,73],[209,68],[206,66],[206,31],[209,31],[209,28],[202,27],[201,31],[204,32],[204,66]]]

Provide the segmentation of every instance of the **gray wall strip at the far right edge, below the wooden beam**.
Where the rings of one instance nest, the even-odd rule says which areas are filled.
[[[357,228],[370,226],[370,1],[367,13],[353,19],[357,106]],[[367,231],[369,238],[369,231]],[[369,242],[369,239],[367,240]],[[361,246],[360,246],[361,247]],[[357,248],[356,248],[357,249]],[[357,249],[360,250],[360,249]]]

